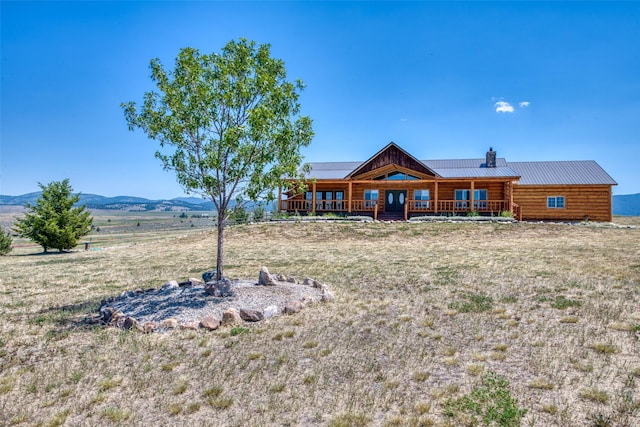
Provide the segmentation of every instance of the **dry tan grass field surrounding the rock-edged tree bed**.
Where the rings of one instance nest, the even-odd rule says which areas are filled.
[[[483,425],[464,404],[480,395],[526,410],[523,426],[640,425],[640,228],[234,226],[228,276],[266,265],[336,301],[145,335],[85,319],[102,298],[210,269],[211,220],[108,219],[95,250],[17,242],[0,257],[1,425]],[[487,386],[492,373],[506,382]]]

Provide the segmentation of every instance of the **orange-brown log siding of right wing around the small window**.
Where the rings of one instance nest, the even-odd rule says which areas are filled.
[[[547,197],[564,196],[564,208],[548,208]],[[611,221],[610,185],[514,185],[513,201],[523,220]]]

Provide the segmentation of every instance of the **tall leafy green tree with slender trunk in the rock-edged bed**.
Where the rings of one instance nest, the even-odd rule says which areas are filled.
[[[140,106],[123,103],[124,115],[129,130],[142,129],[159,142],[156,157],[187,193],[215,205],[220,280],[231,202],[271,201],[284,177],[301,178],[300,148],[313,137],[311,119],[299,115],[304,84],[287,80],[284,62],[271,57],[268,44],[245,39],[209,55],[184,48],[173,70],[159,59],[150,68],[158,90],[146,92]]]

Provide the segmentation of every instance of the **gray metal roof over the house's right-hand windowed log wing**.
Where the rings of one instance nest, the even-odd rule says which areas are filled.
[[[520,185],[617,185],[593,160],[508,162],[520,175]]]

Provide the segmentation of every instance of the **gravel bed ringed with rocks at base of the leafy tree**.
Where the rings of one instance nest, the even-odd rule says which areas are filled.
[[[178,323],[200,321],[208,316],[222,320],[223,310],[234,307],[264,310],[275,305],[278,313],[290,300],[301,300],[305,296],[314,302],[320,301],[321,289],[311,286],[280,282],[276,286],[261,286],[246,280],[231,282],[232,296],[207,295],[204,285],[150,289],[144,292],[124,292],[108,301],[108,305],[125,316],[134,317],[141,323],[160,323],[173,318]]]

